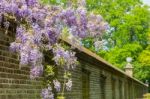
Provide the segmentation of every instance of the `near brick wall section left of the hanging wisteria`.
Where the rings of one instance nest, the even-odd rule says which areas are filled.
[[[40,99],[42,82],[30,80],[29,67],[19,68],[17,54],[9,51],[12,41],[0,31],[0,99]]]

